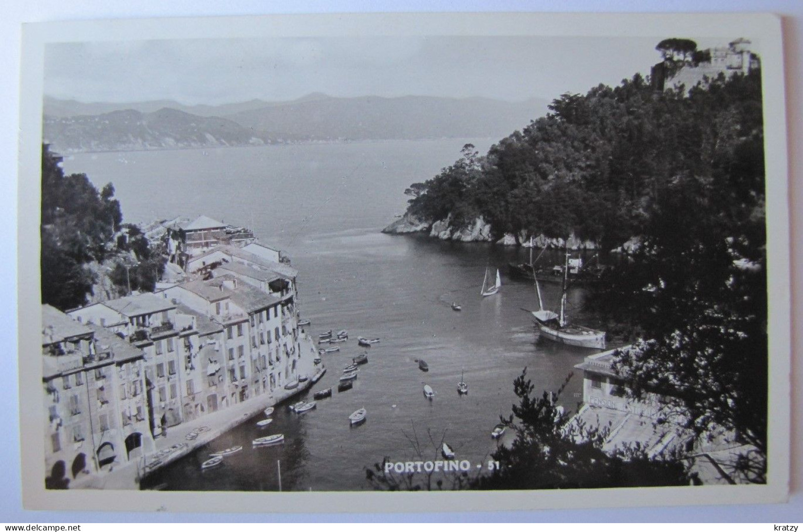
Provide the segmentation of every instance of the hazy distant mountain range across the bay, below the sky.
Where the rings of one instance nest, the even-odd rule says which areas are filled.
[[[170,100],[91,103],[46,97],[44,140],[56,152],[218,148],[293,142],[500,137],[543,116],[548,102],[403,96],[219,106]]]

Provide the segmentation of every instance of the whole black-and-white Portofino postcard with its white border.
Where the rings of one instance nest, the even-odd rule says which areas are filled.
[[[26,28],[26,507],[785,497],[777,19],[217,20]]]

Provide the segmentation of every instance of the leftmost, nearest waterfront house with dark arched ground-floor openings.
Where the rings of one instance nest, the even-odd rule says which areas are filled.
[[[143,352],[49,305],[42,319],[47,487],[79,485],[153,450]]]

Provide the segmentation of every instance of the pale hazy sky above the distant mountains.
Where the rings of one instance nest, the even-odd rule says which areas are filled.
[[[673,35],[674,36],[674,35]],[[740,35],[734,35],[734,39]],[[82,102],[181,104],[433,95],[521,101],[646,75],[650,38],[324,37],[48,44],[44,92]],[[695,39],[692,37],[691,39]],[[700,48],[727,46],[695,39]]]

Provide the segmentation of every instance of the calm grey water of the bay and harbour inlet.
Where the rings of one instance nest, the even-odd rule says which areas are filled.
[[[352,390],[301,416],[276,409],[270,432],[284,433],[283,446],[251,449],[250,441],[264,433],[247,421],[161,470],[150,485],[275,490],[280,460],[285,490],[370,489],[366,467],[383,457],[421,459],[417,446],[421,457],[435,459],[442,440],[476,471],[498,445],[491,428],[510,414],[512,383],[522,369],[536,391],[556,390],[593,352],[537,338],[522,311],[537,305],[533,287],[507,278],[507,262],[524,260],[525,250],[380,233],[404,211],[404,189],[452,164],[467,142],[481,152],[491,144],[308,144],[81,154],[64,161],[67,172],[87,173],[96,185],[112,181],[126,221],[206,214],[252,227],[263,242],[286,250],[300,271],[300,311],[312,319],[311,332],[348,329],[351,335],[339,353],[324,355],[329,371],[312,391],[336,387],[341,368],[365,351],[358,335],[381,338]],[[560,257],[547,253],[540,260]],[[502,290],[489,298],[479,294],[486,267],[502,271]],[[542,290],[555,307],[559,288]],[[569,294],[574,317],[594,325],[582,313],[583,298],[582,290]],[[463,311],[452,311],[453,301]],[[418,369],[418,359],[429,372]],[[461,375],[467,396],[456,390]],[[424,384],[436,392],[434,400],[423,396]],[[580,392],[581,375],[575,375],[561,397],[565,408],[577,408]],[[349,414],[361,407],[368,420],[349,426]],[[512,438],[510,431],[505,438]],[[243,445],[243,452],[201,473],[211,451],[230,445]]]

